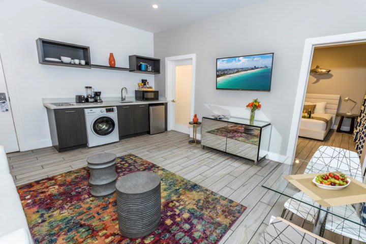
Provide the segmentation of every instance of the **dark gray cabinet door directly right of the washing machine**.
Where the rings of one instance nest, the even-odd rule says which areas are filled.
[[[134,134],[134,105],[117,106],[119,136]]]

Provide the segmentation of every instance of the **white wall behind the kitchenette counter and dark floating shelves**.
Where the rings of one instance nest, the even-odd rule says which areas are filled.
[[[40,65],[36,39],[46,38],[90,47],[92,64],[128,67],[128,56],[154,56],[153,34],[40,0],[3,0],[0,34],[5,76],[12,100],[21,150],[51,145],[42,98],[72,98],[90,85],[103,97],[118,97],[126,86],[134,96],[137,82],[154,76],[102,69]]]

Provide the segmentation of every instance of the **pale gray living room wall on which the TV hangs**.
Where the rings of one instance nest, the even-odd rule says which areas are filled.
[[[352,0],[276,0],[214,16],[171,31],[154,34],[155,56],[197,54],[195,113],[210,114],[205,104],[228,106],[249,117],[245,105],[262,101],[257,119],[272,123],[270,152],[286,155],[304,40],[364,31],[366,2]],[[216,90],[216,58],[275,52],[269,93]],[[155,77],[164,90],[165,64]]]

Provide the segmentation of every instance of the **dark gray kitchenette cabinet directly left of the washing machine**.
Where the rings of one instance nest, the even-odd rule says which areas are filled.
[[[87,143],[84,109],[47,109],[52,145],[58,151]]]

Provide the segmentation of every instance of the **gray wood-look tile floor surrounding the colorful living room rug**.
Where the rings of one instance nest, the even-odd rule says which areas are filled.
[[[64,153],[57,153],[53,147],[23,151],[8,154],[8,160],[16,185],[22,185],[84,167],[86,158],[98,153],[110,152],[117,156],[132,153],[247,206],[247,210],[220,244],[257,243],[269,223],[270,216],[280,216],[283,204],[287,200],[261,187],[281,164],[264,159],[255,166],[253,161],[214,149],[202,149],[199,145],[190,145],[188,139],[186,134],[169,131]],[[307,145],[309,143],[312,142],[308,141]],[[314,146],[315,144],[310,151]],[[302,219],[294,216],[292,222],[301,226]],[[312,230],[311,224],[308,223],[304,224],[304,228]],[[324,237],[335,243],[348,243],[348,238],[330,232],[326,232]]]

